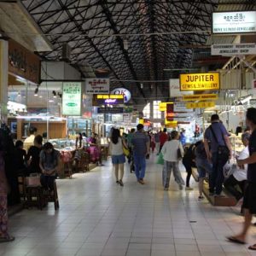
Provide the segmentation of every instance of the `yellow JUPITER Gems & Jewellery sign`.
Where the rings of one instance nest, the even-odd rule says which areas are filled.
[[[180,90],[219,90],[219,73],[182,73]]]

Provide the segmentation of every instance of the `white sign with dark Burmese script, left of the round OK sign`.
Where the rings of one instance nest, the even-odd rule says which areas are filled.
[[[109,94],[109,79],[85,79],[85,94]]]

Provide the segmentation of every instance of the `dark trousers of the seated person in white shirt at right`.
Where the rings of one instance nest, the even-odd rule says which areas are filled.
[[[236,197],[236,200],[239,201],[244,195],[245,185],[247,181],[238,181],[236,177],[233,175],[230,175],[225,181],[224,181],[224,187],[227,189],[231,195],[234,195]],[[240,189],[237,189],[237,187]]]

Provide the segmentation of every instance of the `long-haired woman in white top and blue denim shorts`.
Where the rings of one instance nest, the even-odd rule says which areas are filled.
[[[123,147],[127,148],[125,140],[120,137],[119,129],[113,129],[110,137],[110,152],[112,155],[112,163],[114,166],[116,183],[120,186],[124,186],[124,164],[125,164],[125,154]]]

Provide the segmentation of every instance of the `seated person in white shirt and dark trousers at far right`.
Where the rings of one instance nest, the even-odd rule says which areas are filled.
[[[249,148],[248,148],[249,139],[250,139],[249,133],[246,132],[242,134],[241,141],[246,148],[244,148],[241,151],[241,154],[239,154],[238,156],[239,160],[245,160],[250,156]],[[237,201],[239,201],[243,197],[246,183],[247,183],[247,165],[244,166],[244,168],[240,168],[237,166],[235,172],[224,181],[224,187],[230,192],[231,195],[234,195],[236,197]],[[237,189],[236,186],[239,189]]]

